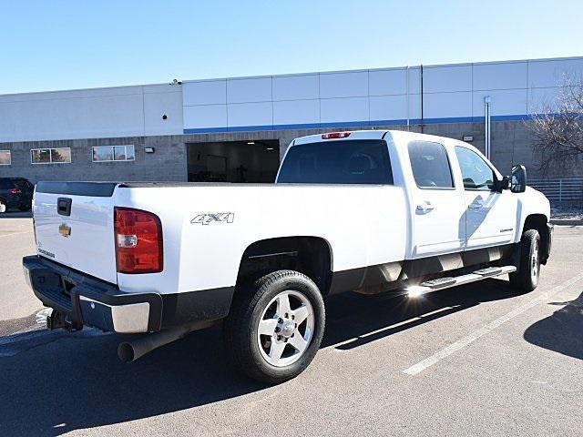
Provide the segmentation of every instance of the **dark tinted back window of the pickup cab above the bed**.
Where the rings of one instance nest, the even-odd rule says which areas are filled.
[[[292,146],[277,183],[392,185],[387,144],[380,139],[352,139]]]

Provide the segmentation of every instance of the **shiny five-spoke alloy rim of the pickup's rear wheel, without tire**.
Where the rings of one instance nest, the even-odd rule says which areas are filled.
[[[281,291],[265,307],[257,326],[261,356],[272,366],[288,366],[308,349],[313,330],[310,300],[298,291]]]

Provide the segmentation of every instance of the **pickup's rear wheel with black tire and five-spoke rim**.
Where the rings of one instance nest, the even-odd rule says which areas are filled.
[[[239,371],[277,384],[295,378],[312,362],[324,325],[322,293],[312,279],[278,270],[236,291],[223,334]]]

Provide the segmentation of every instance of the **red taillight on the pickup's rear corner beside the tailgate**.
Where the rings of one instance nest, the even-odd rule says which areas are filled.
[[[164,268],[162,225],[157,215],[115,208],[119,273],[158,273]]]

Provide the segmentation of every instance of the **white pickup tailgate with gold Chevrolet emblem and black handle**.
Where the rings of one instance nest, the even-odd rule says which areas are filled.
[[[115,187],[96,182],[39,182],[34,202],[38,255],[117,283]]]

